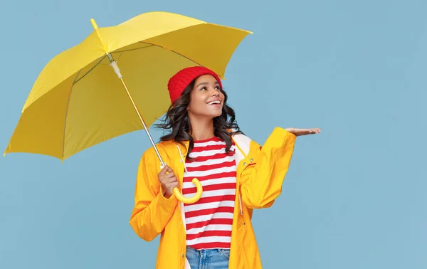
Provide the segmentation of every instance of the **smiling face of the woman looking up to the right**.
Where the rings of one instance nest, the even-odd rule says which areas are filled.
[[[212,75],[196,78],[190,94],[188,113],[190,117],[214,118],[222,114],[224,95],[218,81]]]

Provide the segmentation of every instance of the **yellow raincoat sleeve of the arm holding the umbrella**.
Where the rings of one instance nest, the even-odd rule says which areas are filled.
[[[139,162],[135,206],[130,218],[130,226],[145,241],[162,233],[178,204],[174,195],[169,199],[163,196],[157,177],[159,162],[155,158],[154,150],[148,150]]]

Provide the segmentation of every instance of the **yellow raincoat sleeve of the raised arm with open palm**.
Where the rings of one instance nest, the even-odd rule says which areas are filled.
[[[270,207],[280,195],[295,138],[292,133],[277,127],[261,149],[258,144],[252,142],[251,148],[258,148],[254,157],[255,163],[248,164],[241,174],[242,201],[248,208]]]

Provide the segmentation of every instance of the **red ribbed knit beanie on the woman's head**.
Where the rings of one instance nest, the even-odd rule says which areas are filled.
[[[216,81],[219,83],[219,87],[222,89],[221,79],[218,75],[209,68],[203,66],[193,66],[189,68],[184,68],[176,73],[167,83],[167,89],[169,90],[169,97],[171,97],[171,102],[174,103],[184,92],[186,86],[188,86],[191,81],[196,78],[199,78],[201,75],[213,75],[216,78]]]

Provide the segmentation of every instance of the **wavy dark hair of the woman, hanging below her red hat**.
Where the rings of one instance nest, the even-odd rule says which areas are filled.
[[[194,147],[194,140],[190,135],[191,123],[187,107],[189,106],[191,90],[193,90],[195,83],[196,79],[191,81],[191,83],[182,92],[181,97],[169,106],[162,123],[155,125],[156,127],[164,130],[172,129],[169,134],[160,137],[161,141],[174,140],[180,144],[182,144],[183,141],[189,141],[189,149],[186,154],[186,159],[191,159],[189,154]],[[214,135],[226,142],[226,152],[228,153],[230,152],[230,148],[233,143],[231,136],[243,134],[243,132],[241,132],[240,127],[238,127],[234,110],[227,105],[228,96],[226,92],[224,92],[222,88],[220,90],[224,95],[224,101],[222,114],[218,117],[214,117]],[[233,131],[228,132],[228,130]]]

